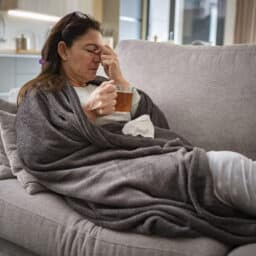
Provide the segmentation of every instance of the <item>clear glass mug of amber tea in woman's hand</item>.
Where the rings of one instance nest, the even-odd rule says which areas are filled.
[[[116,97],[115,111],[131,112],[133,93],[131,91],[120,91],[120,90],[117,90],[116,93],[117,93],[117,97]]]

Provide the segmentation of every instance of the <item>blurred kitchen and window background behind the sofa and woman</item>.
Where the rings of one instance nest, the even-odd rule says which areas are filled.
[[[0,0],[0,98],[40,71],[40,50],[63,15],[102,22],[107,44],[138,39],[186,45],[256,43],[256,0]]]

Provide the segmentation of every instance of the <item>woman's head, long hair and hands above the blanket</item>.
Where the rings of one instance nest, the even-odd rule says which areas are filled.
[[[100,63],[110,81],[94,90],[95,87],[88,87],[87,83],[95,79]],[[83,104],[83,110],[92,122],[114,112],[116,85],[125,91],[132,90],[120,71],[116,54],[109,46],[103,45],[100,24],[79,12],[67,15],[53,28],[42,51],[42,64],[42,73],[23,87],[19,98],[24,96],[28,88],[41,81],[47,81],[51,90],[59,89],[63,84],[61,81],[55,83],[55,80],[64,77],[81,99],[94,91]],[[85,86],[86,90],[79,90]],[[138,103],[139,95],[135,97],[133,105]]]

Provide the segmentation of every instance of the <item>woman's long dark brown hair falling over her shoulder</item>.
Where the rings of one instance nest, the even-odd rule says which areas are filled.
[[[100,23],[82,12],[67,14],[55,24],[41,51],[42,70],[36,78],[22,86],[17,99],[18,104],[32,87],[43,85],[51,91],[63,87],[63,79],[60,76],[61,59],[57,51],[58,43],[64,41],[70,48],[74,40],[90,29],[101,32]]]

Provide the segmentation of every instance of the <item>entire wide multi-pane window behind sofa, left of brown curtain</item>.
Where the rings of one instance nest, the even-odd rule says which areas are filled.
[[[119,40],[222,45],[227,0],[120,0]]]

